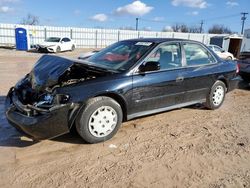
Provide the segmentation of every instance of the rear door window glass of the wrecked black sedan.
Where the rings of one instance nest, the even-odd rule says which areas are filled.
[[[184,44],[186,62],[188,66],[205,65],[215,63],[215,59],[208,50],[199,44]]]

